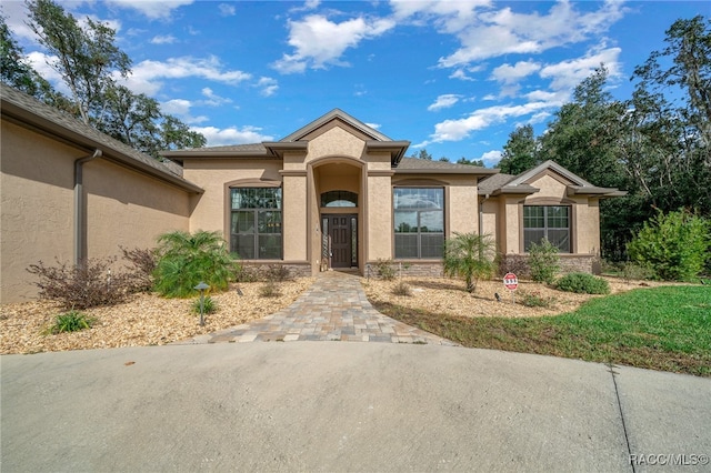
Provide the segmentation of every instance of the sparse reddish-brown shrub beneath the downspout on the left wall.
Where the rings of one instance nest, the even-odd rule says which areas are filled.
[[[66,310],[89,309],[123,302],[133,290],[130,275],[111,274],[116,258],[88,259],[80,265],[69,265],[57,260],[56,266],[43,262],[31,264],[27,271],[39,278],[34,283],[39,296],[58,301]]]

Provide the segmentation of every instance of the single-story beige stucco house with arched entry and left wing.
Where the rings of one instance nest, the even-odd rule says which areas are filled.
[[[247,263],[298,274],[364,274],[378,260],[441,274],[455,232],[490,233],[507,256],[547,236],[594,270],[598,203],[618,190],[550,161],[511,177],[405,158],[409,144],[334,109],[280,141],[161,163],[3,85],[2,301],[33,294],[24,269],[38,260],[151,246],[170,230],[219,231]]]

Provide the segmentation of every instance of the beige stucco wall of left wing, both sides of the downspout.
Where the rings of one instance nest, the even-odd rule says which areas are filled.
[[[74,160],[86,150],[6,121],[0,150],[0,302],[37,296],[26,269],[73,262]],[[120,254],[119,244],[153,246],[166,231],[188,230],[190,194],[104,158],[83,165],[87,256]]]

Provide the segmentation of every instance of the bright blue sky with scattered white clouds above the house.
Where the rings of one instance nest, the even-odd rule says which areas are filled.
[[[709,1],[67,1],[109,22],[133,61],[127,85],[208,138],[276,141],[340,108],[439,159],[492,167],[517,125],[545,130],[603,62],[614,97]],[[24,24],[2,12],[34,68],[57,82]],[[51,59],[51,58],[49,58]]]

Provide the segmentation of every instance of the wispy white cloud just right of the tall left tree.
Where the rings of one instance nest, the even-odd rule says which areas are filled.
[[[201,78],[214,82],[238,84],[251,79],[251,74],[238,70],[224,70],[220,60],[209,58],[170,58],[166,61],[141,61],[133,67],[127,85],[139,93],[156,95],[161,89],[161,79]]]

